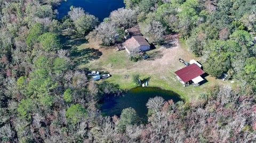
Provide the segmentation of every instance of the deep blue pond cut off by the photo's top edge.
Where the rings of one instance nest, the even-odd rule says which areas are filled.
[[[82,7],[85,12],[88,12],[102,21],[107,18],[111,11],[125,7],[123,0],[67,0],[61,2],[58,7],[58,19],[68,14],[70,6]]]

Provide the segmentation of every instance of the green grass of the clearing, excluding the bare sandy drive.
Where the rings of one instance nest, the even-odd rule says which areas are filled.
[[[71,41],[74,43],[76,40]],[[196,59],[194,55],[186,52],[187,45],[185,41],[180,40],[180,46],[185,51],[185,55],[189,55],[190,58]],[[148,51],[147,53],[150,55],[157,52],[158,49],[159,47]],[[164,73],[157,73],[154,69],[152,69],[152,71],[143,70],[143,67],[138,66],[138,64],[140,64],[139,62],[132,62],[129,60],[129,56],[127,56],[125,50],[115,52],[114,49],[109,47],[99,48],[99,45],[84,43],[71,46],[70,52],[74,55],[71,55],[71,58],[73,58],[73,61],[77,64],[78,69],[110,72],[112,76],[105,79],[105,81],[119,85],[119,88],[121,89],[131,89],[136,87],[132,80],[133,75],[140,74],[140,79],[150,78],[149,86],[172,90],[179,94],[181,98],[187,101],[192,101],[197,100],[199,95],[212,85],[220,83],[228,83],[230,85],[229,81],[227,82],[206,77],[208,82],[204,83],[202,86],[194,87],[190,85],[188,87],[183,87],[174,77],[174,71],[177,70],[177,67],[183,66],[181,63],[173,61],[177,65],[174,67],[166,67]],[[150,64],[146,66],[150,66]],[[235,87],[234,85],[235,84],[231,86]]]

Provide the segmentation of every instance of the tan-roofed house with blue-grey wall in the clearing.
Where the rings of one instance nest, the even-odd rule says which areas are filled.
[[[129,54],[137,48],[143,52],[149,51],[150,49],[148,41],[143,36],[133,36],[126,40],[123,46]]]

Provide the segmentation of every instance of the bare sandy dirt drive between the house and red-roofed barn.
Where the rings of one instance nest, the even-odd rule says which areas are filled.
[[[181,48],[178,36],[173,37],[174,38],[170,40],[170,43],[167,43],[157,48],[153,53],[150,53],[150,58],[148,60],[136,62],[126,69],[115,69],[108,67],[104,67],[104,69],[111,73],[126,73],[132,71],[140,73],[148,71],[154,71],[154,73],[163,73],[167,71],[176,71],[182,68],[182,66],[177,64],[177,62],[179,62],[179,58],[183,58],[184,60],[189,61],[195,57],[191,56],[188,54],[188,51],[185,51],[185,49]],[[102,53],[105,53],[109,50],[113,49],[100,49]]]

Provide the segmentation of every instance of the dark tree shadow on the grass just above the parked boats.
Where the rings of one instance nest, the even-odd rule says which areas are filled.
[[[97,60],[102,55],[99,49],[85,48],[78,50],[77,47],[70,50],[70,57],[75,62],[75,65],[87,64],[89,61]]]

